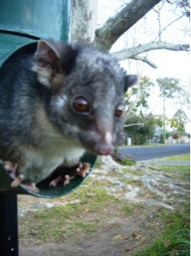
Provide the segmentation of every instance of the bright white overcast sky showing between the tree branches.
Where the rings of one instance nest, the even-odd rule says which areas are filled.
[[[116,11],[119,11],[123,0],[99,0],[99,24],[104,23],[110,15],[113,15]],[[127,2],[127,1],[126,1]],[[172,20],[176,20],[181,14],[179,10],[174,10],[174,6],[165,4],[161,11],[161,26],[162,29],[167,26]],[[136,26],[128,31],[126,37],[121,37],[111,51],[120,51],[124,49],[124,46],[128,44],[128,47],[132,47],[132,42],[138,44],[154,41],[158,35],[158,15],[155,11],[150,11],[143,19],[137,22]],[[175,23],[171,24],[162,34],[162,40],[173,43],[189,43],[189,20],[188,18],[182,18]],[[152,24],[150,26],[150,24]],[[136,27],[136,28],[135,28]],[[126,38],[126,42],[124,42]],[[141,76],[150,77],[156,79],[158,77],[176,77],[180,79],[184,84],[190,82],[190,56],[184,51],[167,51],[158,50],[150,51],[147,57],[157,65],[158,68],[151,68],[148,64],[143,64],[140,61],[131,61],[130,67],[128,61],[122,61],[121,64],[128,73],[140,73]],[[138,66],[138,70],[137,70]],[[129,70],[130,68],[130,70]],[[163,113],[163,100],[158,98],[158,89],[154,88],[153,96],[150,97],[150,109],[154,114]],[[173,117],[180,106],[174,104],[173,100],[167,102],[167,117]],[[185,108],[185,112],[188,110]],[[187,130],[188,130],[187,126]]]

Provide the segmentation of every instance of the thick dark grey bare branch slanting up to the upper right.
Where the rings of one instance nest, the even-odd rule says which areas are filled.
[[[93,45],[109,51],[117,39],[161,0],[133,0],[95,31]]]

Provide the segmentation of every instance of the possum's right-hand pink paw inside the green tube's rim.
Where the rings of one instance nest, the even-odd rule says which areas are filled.
[[[73,170],[67,170],[64,168],[64,174],[59,175],[58,178],[53,179],[50,182],[50,187],[56,187],[58,183],[62,182],[63,186],[70,183],[71,179],[74,179],[76,175],[85,178],[85,175],[89,173],[90,165],[89,163],[79,163],[77,166],[73,167]]]

